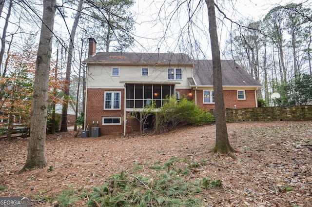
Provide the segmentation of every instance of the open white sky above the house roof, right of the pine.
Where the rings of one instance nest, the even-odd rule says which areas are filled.
[[[138,41],[136,43],[136,48],[133,49],[135,52],[157,52],[157,48],[160,48],[160,52],[179,52],[179,49],[186,49],[186,45],[181,48],[177,46],[177,40],[180,42],[182,38],[180,37],[181,32],[185,34],[186,28],[182,30],[184,26],[187,25],[188,12],[186,4],[184,7],[179,8],[177,14],[173,14],[176,10],[176,1],[178,0],[137,0],[136,5],[133,10],[137,14],[136,21],[136,37]],[[171,3],[174,2],[174,3]],[[195,8],[198,1],[192,1],[191,7]],[[204,2],[204,1],[203,1]],[[302,3],[305,5],[310,5],[312,7],[311,0],[218,0],[223,3],[220,4],[220,9],[227,15],[228,18],[233,21],[240,21],[242,19],[252,19],[254,21],[262,20],[264,16],[275,6],[286,5],[288,3]],[[226,4],[225,4],[226,3]],[[208,17],[207,17],[207,6],[205,4],[201,5],[196,14],[194,20],[194,25],[197,27],[193,28],[195,31],[193,34],[201,43],[202,53],[207,57],[211,58],[211,49],[209,47],[209,34],[208,34]],[[217,12],[217,11],[216,11]],[[218,13],[218,12],[217,12]],[[169,17],[173,18],[169,21]],[[219,20],[220,22],[220,20]],[[225,24],[219,24],[219,40],[220,43],[224,43],[225,39],[229,37],[230,31],[230,21],[223,21]],[[169,24],[169,26],[167,26]],[[166,33],[165,33],[166,32]],[[164,34],[166,34],[164,38]],[[186,34],[183,37],[183,43],[186,42]],[[221,45],[222,49],[222,45]],[[186,51],[188,52],[188,51]]]

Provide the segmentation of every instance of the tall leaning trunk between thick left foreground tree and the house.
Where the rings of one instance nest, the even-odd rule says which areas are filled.
[[[76,17],[74,20],[73,28],[70,33],[69,40],[69,48],[68,48],[68,57],[67,57],[67,67],[66,67],[66,88],[64,90],[64,103],[62,108],[62,121],[60,124],[60,131],[67,132],[67,109],[68,109],[68,101],[69,101],[69,88],[70,88],[70,73],[72,68],[72,58],[73,58],[73,48],[74,48],[74,40],[76,35],[76,29],[78,26],[79,17],[81,14],[83,0],[79,0],[78,9],[76,13]]]

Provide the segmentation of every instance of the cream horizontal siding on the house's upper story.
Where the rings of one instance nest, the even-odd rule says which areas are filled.
[[[119,76],[112,76],[112,68],[119,67]],[[142,76],[142,68],[148,68],[148,76]],[[168,80],[168,68],[181,68],[182,80]],[[177,66],[126,66],[91,65],[88,68],[87,88],[124,88],[126,81],[136,82],[177,82],[176,88],[189,88],[187,78],[192,77],[192,67]]]

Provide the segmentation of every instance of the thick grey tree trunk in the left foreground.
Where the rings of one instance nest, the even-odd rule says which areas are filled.
[[[45,137],[48,111],[49,71],[56,0],[43,0],[43,15],[36,61],[27,160],[23,170],[46,165]]]

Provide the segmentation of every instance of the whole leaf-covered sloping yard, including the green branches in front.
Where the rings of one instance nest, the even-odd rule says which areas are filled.
[[[238,160],[210,152],[213,124],[125,138],[68,132],[47,137],[46,167],[21,174],[28,139],[1,139],[0,196],[31,196],[37,207],[56,200],[94,206],[93,199],[115,199],[102,207],[142,200],[145,206],[312,207],[311,121],[227,126]],[[124,197],[113,198],[116,191]]]

